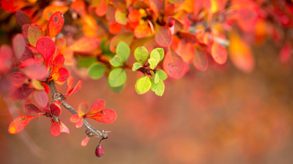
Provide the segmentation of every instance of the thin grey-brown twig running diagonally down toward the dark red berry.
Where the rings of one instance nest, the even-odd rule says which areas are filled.
[[[65,107],[72,114],[78,113],[73,107],[71,107],[65,101],[65,97],[62,94],[57,92],[54,81],[49,81],[48,85],[51,90],[53,102],[55,102],[56,100],[59,100],[60,102],[62,102],[62,106]],[[96,128],[91,126],[91,124],[89,124],[89,122],[87,122],[85,119],[84,119],[84,127],[86,128],[86,135],[88,135],[89,137],[96,136],[96,137],[101,137],[102,139],[108,138],[108,134],[104,130],[97,130]]]

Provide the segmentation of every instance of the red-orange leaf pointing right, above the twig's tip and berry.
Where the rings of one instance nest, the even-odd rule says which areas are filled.
[[[98,122],[104,122],[105,124],[110,124],[114,122],[117,118],[117,114],[112,109],[103,109],[99,111],[96,115],[86,116],[86,118],[91,118],[97,120]]]

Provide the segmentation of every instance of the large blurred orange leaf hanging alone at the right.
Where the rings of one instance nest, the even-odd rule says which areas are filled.
[[[235,31],[230,33],[230,42],[228,50],[233,64],[239,70],[251,72],[255,67],[255,59],[250,46]]]

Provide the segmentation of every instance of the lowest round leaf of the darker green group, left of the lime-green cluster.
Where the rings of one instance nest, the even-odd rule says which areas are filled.
[[[108,82],[110,87],[119,87],[126,82],[127,76],[123,68],[115,68],[110,71]]]

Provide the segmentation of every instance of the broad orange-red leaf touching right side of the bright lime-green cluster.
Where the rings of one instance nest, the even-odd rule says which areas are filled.
[[[172,49],[167,52],[163,60],[163,68],[168,77],[180,79],[185,72],[185,64],[183,59],[177,55]]]

